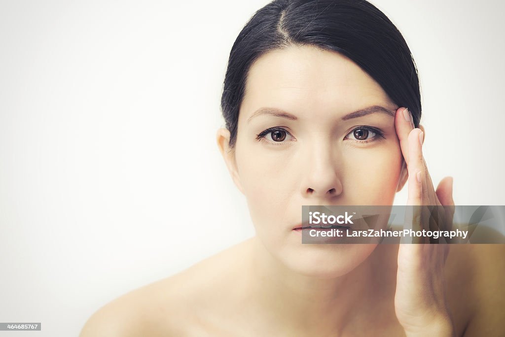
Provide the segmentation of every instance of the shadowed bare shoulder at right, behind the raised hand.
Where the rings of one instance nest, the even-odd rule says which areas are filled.
[[[459,335],[505,335],[503,280],[505,244],[451,245],[446,262],[447,301]]]

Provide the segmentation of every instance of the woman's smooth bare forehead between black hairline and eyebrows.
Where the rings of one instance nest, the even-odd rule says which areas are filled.
[[[268,52],[251,66],[241,110],[261,106],[341,108],[392,105],[387,94],[354,62],[340,53],[312,46]],[[245,117],[245,116],[244,116]]]

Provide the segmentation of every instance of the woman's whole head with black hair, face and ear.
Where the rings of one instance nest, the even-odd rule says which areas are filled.
[[[292,229],[302,205],[392,204],[407,179],[399,106],[418,126],[409,49],[372,5],[275,1],[249,21],[230,53],[218,143],[272,256],[328,277],[370,255],[371,244],[300,245]]]

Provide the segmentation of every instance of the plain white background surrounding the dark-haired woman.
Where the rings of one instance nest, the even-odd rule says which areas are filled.
[[[503,3],[373,3],[417,62],[433,181],[505,205]],[[265,4],[0,2],[0,322],[42,323],[0,335],[77,335],[254,235],[215,135],[230,48]]]

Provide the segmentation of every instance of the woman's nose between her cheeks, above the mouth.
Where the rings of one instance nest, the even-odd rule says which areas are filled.
[[[331,147],[319,147],[311,151],[302,167],[305,175],[301,193],[306,197],[332,198],[342,193],[340,174],[341,160]]]

